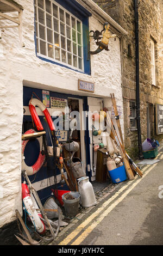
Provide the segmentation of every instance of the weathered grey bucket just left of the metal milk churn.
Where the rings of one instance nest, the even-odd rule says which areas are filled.
[[[79,202],[80,202],[80,194],[79,192],[69,192],[71,196],[73,196],[75,199],[67,200],[65,196],[66,194],[62,195],[62,200],[64,202],[64,208],[65,208],[65,214],[66,216],[73,217],[78,214],[79,211]]]

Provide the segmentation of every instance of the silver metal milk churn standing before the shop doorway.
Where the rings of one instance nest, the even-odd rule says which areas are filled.
[[[78,189],[80,193],[80,203],[83,208],[97,204],[95,193],[88,176],[78,179]]]

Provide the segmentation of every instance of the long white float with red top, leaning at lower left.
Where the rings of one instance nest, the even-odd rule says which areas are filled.
[[[30,191],[27,184],[22,183],[22,200],[24,206],[29,214],[30,220],[34,224],[36,230],[43,234],[45,233],[46,227],[45,224],[40,220],[42,217],[41,212],[37,212],[35,209],[35,203],[33,202],[32,198],[30,197]],[[40,216],[40,217],[39,217]]]

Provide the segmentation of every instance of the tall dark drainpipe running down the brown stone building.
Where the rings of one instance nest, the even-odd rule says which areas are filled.
[[[136,56],[136,121],[137,121],[137,138],[139,147],[139,159],[143,159],[141,126],[140,126],[140,88],[139,88],[139,0],[135,2],[135,56]]]

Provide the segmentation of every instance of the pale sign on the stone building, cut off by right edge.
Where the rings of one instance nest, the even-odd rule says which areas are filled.
[[[163,105],[155,105],[156,134],[163,133]]]

